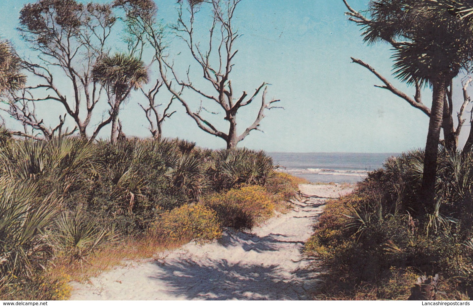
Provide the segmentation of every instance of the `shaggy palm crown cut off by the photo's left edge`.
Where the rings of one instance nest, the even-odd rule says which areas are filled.
[[[18,90],[26,83],[26,76],[20,73],[21,60],[8,41],[0,41],[0,94]]]

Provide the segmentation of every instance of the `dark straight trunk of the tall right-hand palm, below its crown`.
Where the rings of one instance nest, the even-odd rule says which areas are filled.
[[[445,78],[438,77],[438,79],[432,82],[432,87],[432,111],[430,114],[427,143],[425,145],[424,173],[422,175],[422,187],[420,190],[424,208],[429,212],[432,212],[435,207],[438,142],[440,139],[445,103]],[[419,210],[417,213],[420,214],[421,211]]]

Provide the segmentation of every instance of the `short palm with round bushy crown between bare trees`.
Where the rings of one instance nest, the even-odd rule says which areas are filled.
[[[148,82],[148,71],[143,61],[132,54],[117,53],[106,55],[97,60],[92,70],[94,81],[106,88],[111,106],[110,118],[112,133],[110,140],[118,140],[118,113],[122,102],[129,96],[131,90],[138,89]]]

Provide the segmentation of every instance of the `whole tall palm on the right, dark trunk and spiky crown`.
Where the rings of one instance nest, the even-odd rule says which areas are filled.
[[[371,19],[351,18],[364,26],[364,40],[368,44],[384,41],[393,45],[394,75],[398,79],[432,87],[420,192],[422,202],[431,210],[435,206],[438,143],[446,89],[472,62],[473,32],[464,20],[433,0],[372,0],[368,12]]]

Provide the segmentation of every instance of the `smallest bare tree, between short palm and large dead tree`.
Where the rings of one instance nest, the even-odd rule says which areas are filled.
[[[170,101],[164,107],[164,111],[160,112],[159,107],[163,106],[163,104],[158,104],[156,101],[156,96],[158,95],[159,89],[163,86],[163,82],[156,80],[156,84],[153,88],[151,88],[148,92],[145,92],[143,88],[141,88],[141,92],[144,96],[146,96],[148,100],[148,105],[143,106],[139,104],[141,109],[145,112],[146,119],[149,122],[149,131],[154,139],[160,140],[163,133],[162,124],[166,120],[166,118],[170,118],[176,111],[169,113],[169,108],[171,107],[172,103],[175,100],[175,96],[172,96]]]

